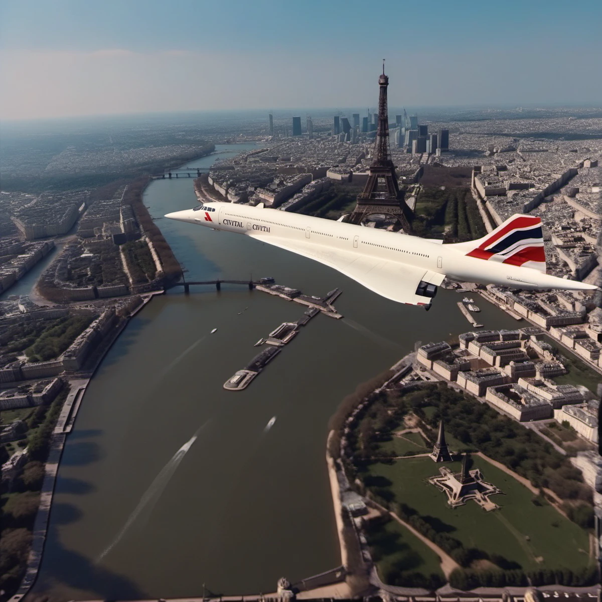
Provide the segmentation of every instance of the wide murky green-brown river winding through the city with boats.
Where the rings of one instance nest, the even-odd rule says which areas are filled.
[[[169,598],[200,596],[205,584],[252,594],[275,591],[282,576],[295,582],[338,566],[327,421],[415,341],[468,330],[458,293],[440,290],[426,312],[285,250],[162,219],[196,205],[191,178],[155,181],[144,200],[187,279],[273,276],[318,295],[340,287],[335,305],[345,317],[315,317],[234,393],[222,385],[258,352],[253,344],[303,306],[225,285],[155,297],[106,356],[67,438],[35,591]],[[486,327],[516,326],[478,302]]]

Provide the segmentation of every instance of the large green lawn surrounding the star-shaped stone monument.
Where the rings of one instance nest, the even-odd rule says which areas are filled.
[[[459,539],[465,548],[500,554],[526,570],[577,570],[588,565],[589,539],[585,530],[545,502],[535,506],[529,489],[484,459],[473,456],[473,462],[486,481],[503,491],[504,495],[492,496],[500,510],[485,512],[472,500],[457,508],[448,506],[447,497],[427,482],[441,466],[430,458],[397,460],[390,465],[377,463],[370,465],[368,471],[371,476],[389,479],[396,501],[418,510],[438,532]],[[453,470],[459,471],[460,467],[460,462],[453,463]],[[541,557],[543,560],[538,562]]]

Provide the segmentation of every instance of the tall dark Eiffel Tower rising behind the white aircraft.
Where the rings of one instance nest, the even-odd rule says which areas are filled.
[[[374,155],[368,172],[364,191],[358,194],[358,202],[349,216],[349,222],[360,224],[373,213],[383,213],[396,217],[406,231],[410,231],[406,212],[409,207],[400,198],[395,166],[389,156],[389,114],[386,107],[386,88],[389,78],[385,75],[385,60],[382,61],[382,75],[379,80],[378,127],[374,143]]]

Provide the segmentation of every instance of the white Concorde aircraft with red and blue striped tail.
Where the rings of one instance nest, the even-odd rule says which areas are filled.
[[[453,244],[277,211],[263,203],[206,202],[165,217],[273,244],[328,265],[387,299],[426,309],[445,276],[530,290],[597,289],[545,273],[539,217],[515,214],[483,238]]]

